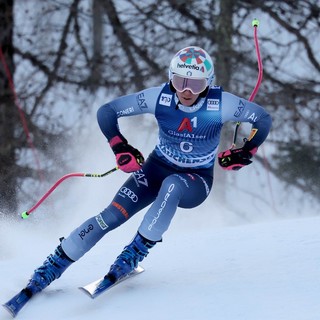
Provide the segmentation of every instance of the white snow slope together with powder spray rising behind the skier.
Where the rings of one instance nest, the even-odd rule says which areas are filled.
[[[98,129],[95,132],[91,145],[96,152],[87,148],[83,161],[75,162],[75,171],[104,172],[114,166],[104,138]],[[319,206],[310,210],[292,192],[279,191],[274,180],[270,190],[268,176],[256,163],[225,174],[238,179],[228,186],[224,205],[210,198],[196,209],[178,210],[163,242],[143,261],[146,272],[95,300],[78,289],[105,274],[137,230],[141,212],[107,234],[17,318],[320,319]],[[0,215],[0,302],[24,287],[59,237],[103,209],[125,178],[122,172],[102,179],[72,178],[29,219],[13,221]],[[239,191],[241,185],[244,190]],[[10,318],[0,308],[0,319]]]

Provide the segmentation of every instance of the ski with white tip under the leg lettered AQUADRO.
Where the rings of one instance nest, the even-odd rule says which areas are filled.
[[[83,292],[85,292],[87,295],[89,295],[90,298],[95,299],[103,292],[110,290],[111,288],[118,285],[119,283],[121,283],[127,279],[130,279],[130,278],[140,274],[143,271],[144,271],[144,268],[142,268],[141,266],[138,266],[131,273],[129,273],[127,276],[121,278],[120,280],[117,280],[116,282],[112,281],[110,278],[108,278],[107,275],[105,275],[103,278],[100,278],[96,281],[93,281],[93,282],[87,284],[86,286],[79,287],[79,289],[82,290]]]

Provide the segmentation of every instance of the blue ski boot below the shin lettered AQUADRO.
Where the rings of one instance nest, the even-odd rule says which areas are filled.
[[[116,282],[133,271],[157,242],[142,237],[139,233],[127,245],[110,267],[107,277]]]

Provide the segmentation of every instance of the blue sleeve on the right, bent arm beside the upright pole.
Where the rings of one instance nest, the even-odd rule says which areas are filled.
[[[259,147],[264,142],[272,125],[271,116],[263,107],[228,92],[222,93],[222,121],[252,124],[250,136],[245,144],[248,150]]]

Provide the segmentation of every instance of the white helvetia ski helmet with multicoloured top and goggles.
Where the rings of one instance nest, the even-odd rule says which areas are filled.
[[[178,51],[169,67],[169,80],[177,91],[189,89],[199,94],[211,86],[214,66],[209,54],[202,48],[191,46]]]

